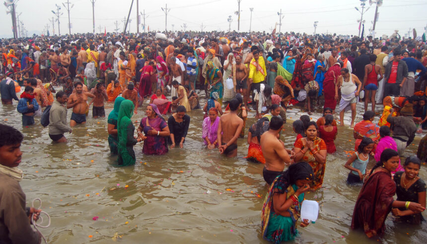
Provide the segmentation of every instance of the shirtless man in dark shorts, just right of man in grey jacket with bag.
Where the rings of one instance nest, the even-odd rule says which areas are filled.
[[[92,93],[83,92],[83,84],[76,82],[74,84],[75,93],[72,93],[68,98],[67,109],[72,108],[70,126],[86,123],[87,97],[95,97]]]

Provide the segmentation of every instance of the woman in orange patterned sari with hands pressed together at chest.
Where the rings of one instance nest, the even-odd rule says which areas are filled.
[[[317,124],[314,121],[307,123],[305,137],[298,139],[293,151],[295,152],[295,163],[307,162],[313,168],[314,178],[310,182],[310,189],[316,190],[323,184],[326,164],[326,143],[317,137]]]

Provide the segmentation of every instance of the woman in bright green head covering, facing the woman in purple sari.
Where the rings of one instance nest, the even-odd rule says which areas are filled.
[[[135,164],[134,145],[144,140],[142,136],[136,139],[134,137],[135,126],[131,120],[134,109],[134,103],[131,100],[124,100],[120,104],[117,132],[119,138],[118,162],[121,166]]]

